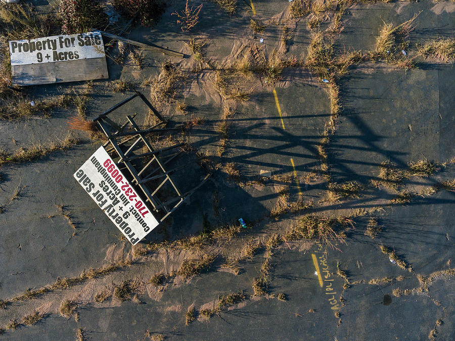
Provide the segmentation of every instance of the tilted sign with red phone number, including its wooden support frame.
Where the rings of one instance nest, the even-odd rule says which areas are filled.
[[[119,111],[129,112],[123,106],[134,99],[142,100],[147,109],[142,114],[138,110],[138,117],[152,119],[153,126],[140,127],[134,120],[138,112],[126,115],[123,124],[113,120]],[[111,113],[112,119],[108,117]],[[186,124],[165,119],[140,92],[134,91],[93,122],[107,141],[74,178],[135,245],[203,186],[211,171],[203,162],[205,157],[187,143],[167,141],[163,145],[165,134],[183,131]]]

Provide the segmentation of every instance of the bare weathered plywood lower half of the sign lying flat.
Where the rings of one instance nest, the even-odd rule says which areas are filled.
[[[11,73],[13,84],[18,86],[109,78],[105,57],[13,65]]]

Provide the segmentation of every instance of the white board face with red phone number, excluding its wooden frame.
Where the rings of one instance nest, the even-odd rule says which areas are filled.
[[[158,226],[103,146],[74,173],[74,178],[131,244],[137,244]]]

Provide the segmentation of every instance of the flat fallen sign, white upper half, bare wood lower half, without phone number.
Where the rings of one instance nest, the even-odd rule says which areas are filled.
[[[100,31],[10,40],[9,45],[14,85],[108,78]]]

